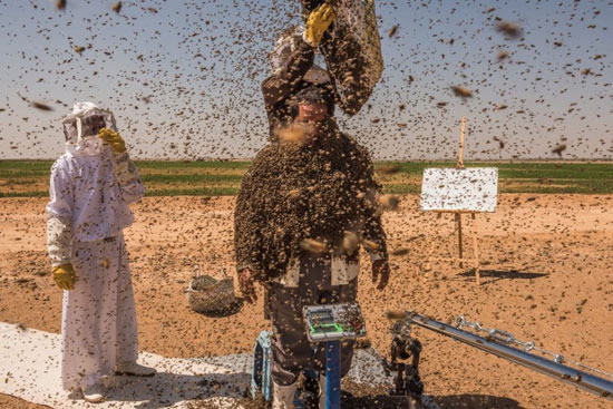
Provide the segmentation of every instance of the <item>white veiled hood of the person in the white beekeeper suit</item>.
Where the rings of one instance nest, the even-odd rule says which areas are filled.
[[[62,119],[66,147],[72,154],[98,155],[105,144],[98,138],[101,128],[117,130],[115,117],[109,110],[94,103],[77,103],[72,114]]]

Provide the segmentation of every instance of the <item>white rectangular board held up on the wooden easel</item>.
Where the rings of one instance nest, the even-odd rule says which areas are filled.
[[[494,212],[498,168],[427,168],[421,182],[422,211]]]

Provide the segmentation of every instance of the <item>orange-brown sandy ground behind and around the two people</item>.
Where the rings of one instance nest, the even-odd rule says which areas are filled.
[[[0,321],[60,331],[61,292],[49,275],[41,198],[0,199]],[[135,206],[125,232],[132,255],[139,347],[167,357],[250,351],[269,327],[262,300],[227,318],[187,308],[185,289],[196,269],[234,274],[234,197],[149,197]],[[568,359],[613,371],[613,196],[502,195],[496,213],[478,215],[485,271],[435,263],[428,249],[454,251],[453,216],[422,213],[417,196],[402,196],[385,215],[393,275],[383,292],[362,259],[359,301],[372,344],[388,353],[385,312],[411,309],[441,321],[459,314],[514,333]],[[465,232],[470,231],[470,223]],[[469,236],[465,246],[469,247]],[[436,273],[436,274],[435,274]],[[420,367],[426,393],[442,408],[611,408],[603,400],[426,330]],[[0,407],[37,406],[1,396]]]

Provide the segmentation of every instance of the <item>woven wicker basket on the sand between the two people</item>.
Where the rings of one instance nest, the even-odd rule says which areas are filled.
[[[234,296],[234,280],[225,276],[222,280],[211,275],[196,275],[187,289],[187,303],[196,312],[218,312],[230,309]]]

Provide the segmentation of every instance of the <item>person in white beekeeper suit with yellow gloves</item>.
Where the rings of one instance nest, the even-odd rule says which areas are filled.
[[[51,167],[47,246],[62,305],[61,381],[89,402],[103,376],[149,377],[136,363],[136,310],[123,230],[145,187],[113,114],[77,103],[62,120],[66,153]]]

